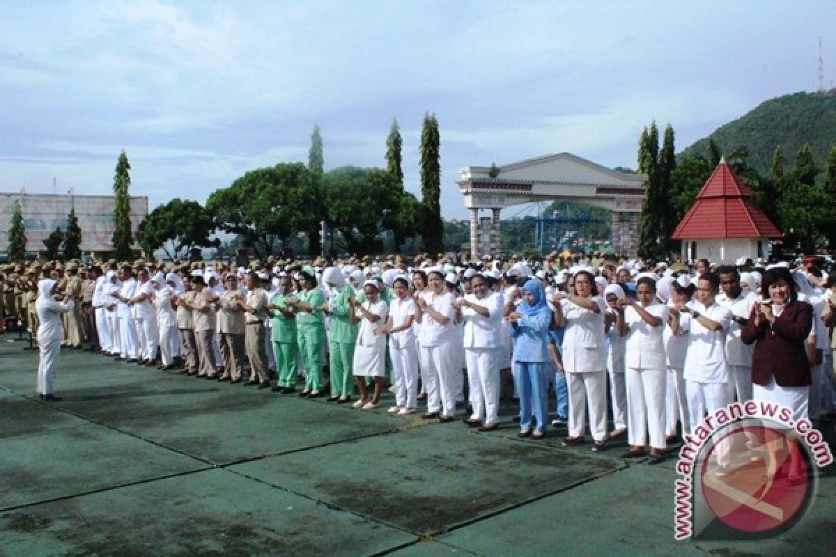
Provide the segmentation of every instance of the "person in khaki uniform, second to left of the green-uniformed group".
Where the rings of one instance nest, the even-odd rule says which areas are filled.
[[[244,367],[244,333],[247,319],[238,306],[244,297],[238,288],[238,277],[228,273],[225,280],[226,290],[218,297],[217,332],[221,337],[221,353],[224,370],[218,381],[241,382]]]

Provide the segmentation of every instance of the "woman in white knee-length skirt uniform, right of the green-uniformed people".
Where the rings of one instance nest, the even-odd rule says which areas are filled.
[[[349,303],[360,318],[357,346],[354,348],[354,361],[352,362],[360,397],[353,406],[371,410],[380,404],[380,391],[385,382],[386,336],[378,334],[378,328],[389,315],[389,305],[385,300],[380,299],[377,281],[365,281],[363,288],[364,301],[359,302],[354,297],[349,298]],[[375,383],[375,394],[371,399],[366,390],[366,377],[372,377]]]

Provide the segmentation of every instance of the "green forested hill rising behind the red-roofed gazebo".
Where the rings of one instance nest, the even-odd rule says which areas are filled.
[[[810,144],[813,160],[823,165],[836,144],[836,96],[794,93],[767,100],[742,118],[722,125],[692,144],[677,158],[705,154],[709,139],[724,154],[745,146],[749,152],[748,165],[759,172],[770,169],[776,147],[781,148],[785,160],[790,162],[803,144]]]

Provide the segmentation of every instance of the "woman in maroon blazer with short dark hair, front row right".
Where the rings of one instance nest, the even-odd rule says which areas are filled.
[[[764,301],[752,308],[742,331],[746,344],[755,342],[752,358],[752,397],[792,408],[793,423],[807,418],[810,398],[810,362],[806,342],[813,327],[813,306],[799,301],[795,281],[786,267],[774,267],[763,274]],[[767,477],[778,473],[781,447],[776,433],[767,430],[769,452]],[[793,454],[792,452],[790,454]],[[790,463],[789,479],[798,477],[800,458]]]

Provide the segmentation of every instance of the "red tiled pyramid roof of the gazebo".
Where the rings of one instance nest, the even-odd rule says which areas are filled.
[[[725,160],[702,186],[696,201],[676,226],[674,240],[712,238],[777,238],[781,231],[752,202],[752,190],[734,175]]]

